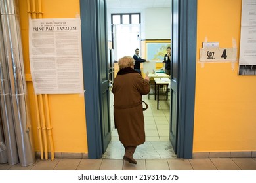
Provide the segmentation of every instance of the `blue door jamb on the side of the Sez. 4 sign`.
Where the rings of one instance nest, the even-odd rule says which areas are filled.
[[[180,65],[177,157],[192,159],[196,88],[197,0],[180,0]]]

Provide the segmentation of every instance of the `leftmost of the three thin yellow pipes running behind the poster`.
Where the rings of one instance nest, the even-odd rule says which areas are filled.
[[[31,18],[31,10],[30,10],[30,0],[27,0],[27,8],[28,8],[28,18]],[[36,110],[36,118],[37,118],[37,133],[39,139],[39,148],[41,153],[41,159],[43,159],[43,139],[42,139],[42,132],[41,132],[41,124],[40,124],[40,114],[39,114],[39,106],[38,106],[38,97],[35,94],[35,110]]]

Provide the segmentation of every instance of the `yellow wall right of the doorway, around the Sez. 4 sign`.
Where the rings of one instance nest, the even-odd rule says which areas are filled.
[[[208,42],[240,45],[242,0],[198,0],[196,103],[193,152],[256,150],[256,76],[239,76],[238,62],[199,63]]]

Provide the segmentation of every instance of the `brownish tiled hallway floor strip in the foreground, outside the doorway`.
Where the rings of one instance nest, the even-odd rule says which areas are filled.
[[[37,159],[27,167],[0,164],[0,170],[256,170],[256,158],[137,159],[137,165],[123,159]]]

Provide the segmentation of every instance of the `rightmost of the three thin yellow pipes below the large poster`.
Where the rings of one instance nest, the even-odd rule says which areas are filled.
[[[52,127],[50,121],[50,112],[49,112],[49,103],[48,103],[48,95],[45,95],[45,107],[46,107],[46,119],[47,119],[47,133],[51,145],[51,160],[54,160],[54,146],[53,146],[53,135],[52,135]]]

